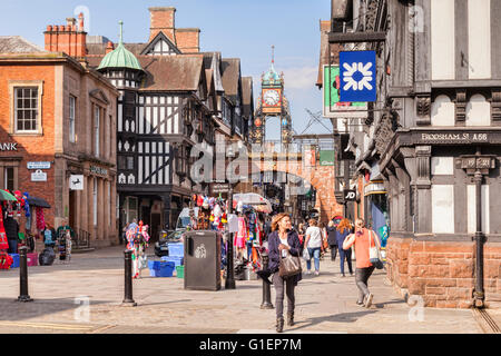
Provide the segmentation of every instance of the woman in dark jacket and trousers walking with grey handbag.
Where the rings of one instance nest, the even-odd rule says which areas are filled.
[[[287,326],[294,325],[295,296],[294,289],[302,279],[301,273],[289,277],[281,277],[278,268],[281,257],[286,257],[287,253],[292,256],[299,256],[299,237],[292,230],[291,216],[281,212],[273,218],[272,234],[268,239],[269,248],[269,273],[273,273],[273,285],[275,286],[276,299],[276,332],[284,329],[284,287],[287,296]]]

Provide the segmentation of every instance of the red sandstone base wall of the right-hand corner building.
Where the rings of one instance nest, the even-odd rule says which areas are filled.
[[[475,243],[390,238],[387,276],[402,294],[428,307],[469,308],[475,285]],[[485,303],[501,301],[501,244],[484,245]]]

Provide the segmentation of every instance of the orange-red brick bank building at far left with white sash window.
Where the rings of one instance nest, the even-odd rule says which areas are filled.
[[[90,235],[91,246],[107,246],[117,240],[118,92],[76,59],[85,32],[75,20],[50,31],[63,38],[53,51],[0,37],[0,142],[8,144],[0,151],[0,185],[46,199],[47,222],[58,227],[67,219],[79,237]],[[28,162],[50,168],[29,169]],[[84,190],[70,190],[71,175],[84,176]]]

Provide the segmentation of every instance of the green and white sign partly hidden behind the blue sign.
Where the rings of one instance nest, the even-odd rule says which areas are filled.
[[[342,102],[340,100],[340,66],[324,66],[323,102],[325,118],[366,118],[366,102]]]

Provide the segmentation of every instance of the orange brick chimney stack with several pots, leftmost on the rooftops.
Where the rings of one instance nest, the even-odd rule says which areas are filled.
[[[67,24],[48,26],[46,36],[46,50],[51,52],[65,52],[68,56],[76,58],[84,58],[87,56],[86,42],[87,32],[84,31],[84,13],[78,17],[78,30],[77,20],[73,18],[66,19]]]

